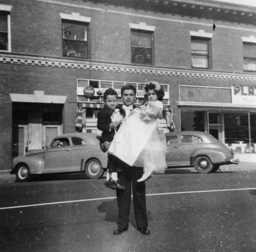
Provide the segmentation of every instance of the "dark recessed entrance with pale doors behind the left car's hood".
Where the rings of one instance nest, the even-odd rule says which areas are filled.
[[[13,103],[13,156],[49,146],[62,133],[63,105]]]

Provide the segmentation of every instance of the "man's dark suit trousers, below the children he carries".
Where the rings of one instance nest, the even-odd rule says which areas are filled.
[[[125,189],[116,189],[118,230],[125,230],[129,226],[132,191],[137,228],[138,230],[146,230],[146,185],[145,182],[137,182],[142,177],[143,167],[132,167],[122,161],[119,162],[119,167],[121,167],[121,172],[118,172],[118,179]]]

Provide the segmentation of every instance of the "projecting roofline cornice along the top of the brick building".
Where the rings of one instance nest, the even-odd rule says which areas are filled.
[[[84,1],[80,0],[75,3],[63,2],[60,0],[31,0],[34,2],[42,2],[47,4],[62,5],[73,8],[90,9],[94,11],[100,11],[102,13],[115,13],[134,15],[134,13],[116,11],[115,7],[120,6],[126,9],[135,10],[153,10],[159,13],[172,13],[182,16],[195,16],[214,18],[217,17],[224,20],[236,21],[239,18],[239,22],[254,23],[256,18],[256,8],[252,6],[246,6],[243,4],[231,4],[221,1],[211,0],[137,0],[137,1],[120,1],[120,0],[90,0],[88,5],[84,5]],[[93,5],[93,3],[95,5]],[[108,6],[108,8],[105,8]],[[202,16],[201,16],[202,15]],[[206,15],[206,16],[205,16]],[[148,16],[150,18],[150,16]],[[218,18],[217,18],[218,19]]]

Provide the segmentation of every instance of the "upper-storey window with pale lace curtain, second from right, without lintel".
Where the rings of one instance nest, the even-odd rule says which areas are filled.
[[[208,39],[191,38],[191,67],[210,68]]]

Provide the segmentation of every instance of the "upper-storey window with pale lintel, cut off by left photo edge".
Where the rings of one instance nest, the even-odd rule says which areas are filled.
[[[11,6],[0,5],[0,51],[11,52]]]

